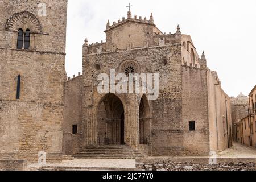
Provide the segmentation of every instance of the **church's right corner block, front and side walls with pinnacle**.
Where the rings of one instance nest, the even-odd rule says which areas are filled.
[[[206,60],[201,64],[207,65]],[[208,155],[209,151],[231,147],[230,98],[221,89],[216,71],[188,65],[183,65],[182,71],[182,126],[188,154]],[[195,131],[189,131],[189,121],[195,121]]]

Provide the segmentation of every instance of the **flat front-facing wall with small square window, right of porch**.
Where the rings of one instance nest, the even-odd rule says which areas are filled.
[[[182,67],[182,129],[184,147],[189,155],[209,154],[209,119],[207,71]],[[196,130],[189,131],[189,121],[195,121]]]

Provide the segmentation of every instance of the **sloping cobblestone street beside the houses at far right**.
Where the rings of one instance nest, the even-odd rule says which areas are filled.
[[[233,142],[233,147],[219,152],[217,156],[221,158],[256,158],[256,148]]]

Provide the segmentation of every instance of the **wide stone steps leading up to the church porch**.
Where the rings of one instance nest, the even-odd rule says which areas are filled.
[[[144,158],[138,150],[130,146],[89,146],[72,155],[75,159],[135,159]]]

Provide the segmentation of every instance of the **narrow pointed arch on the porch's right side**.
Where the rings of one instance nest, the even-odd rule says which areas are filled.
[[[139,144],[150,144],[150,106],[145,95],[139,104]]]

